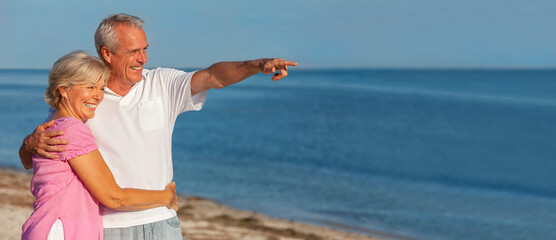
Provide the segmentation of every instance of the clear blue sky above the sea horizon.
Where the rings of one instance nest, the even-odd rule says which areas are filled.
[[[95,54],[98,23],[119,12],[145,20],[147,67],[556,68],[556,1],[543,0],[0,0],[0,68]]]

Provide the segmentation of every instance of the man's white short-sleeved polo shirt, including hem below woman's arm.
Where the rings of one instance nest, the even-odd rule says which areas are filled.
[[[157,68],[124,96],[106,88],[95,117],[87,121],[104,161],[122,188],[163,190],[173,178],[172,132],[176,118],[203,107],[206,92],[191,96],[194,72]],[[104,228],[152,223],[176,216],[158,207],[116,211],[103,207]]]

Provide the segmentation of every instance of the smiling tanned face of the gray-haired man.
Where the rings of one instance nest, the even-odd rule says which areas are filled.
[[[109,61],[111,79],[133,85],[141,81],[147,62],[147,36],[143,29],[127,25],[117,25],[116,34],[120,45]]]

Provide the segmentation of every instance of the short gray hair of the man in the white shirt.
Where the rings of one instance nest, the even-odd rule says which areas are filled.
[[[116,36],[116,26],[118,24],[127,24],[130,27],[143,28],[143,23],[144,21],[142,19],[125,13],[110,15],[102,19],[95,32],[95,48],[97,49],[98,57],[105,61],[100,51],[104,46],[106,46],[110,52],[116,52],[116,49],[118,49],[119,42],[118,36]]]

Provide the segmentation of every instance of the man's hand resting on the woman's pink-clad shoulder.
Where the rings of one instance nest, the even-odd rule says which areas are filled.
[[[66,145],[68,144],[67,139],[54,138],[57,136],[64,135],[64,131],[48,131],[45,130],[51,127],[54,121],[46,122],[39,125],[35,131],[27,136],[23,140],[23,146],[31,154],[41,155],[50,159],[57,159],[57,154],[52,154],[49,152],[63,152],[66,149],[64,147],[56,145]]]

